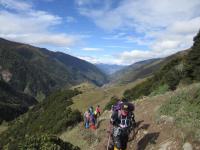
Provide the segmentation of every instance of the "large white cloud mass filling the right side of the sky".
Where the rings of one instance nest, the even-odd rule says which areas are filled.
[[[108,5],[107,1],[104,3]],[[79,11],[100,28],[127,31],[127,35],[116,34],[104,39],[122,39],[148,47],[148,51],[132,50],[119,55],[122,63],[131,63],[189,48],[200,29],[199,8],[199,0],[123,0],[106,9],[94,8],[91,4],[79,6]],[[137,34],[128,34],[131,31]]]

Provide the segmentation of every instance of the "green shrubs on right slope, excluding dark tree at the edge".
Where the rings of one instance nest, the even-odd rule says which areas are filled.
[[[185,78],[184,73],[185,55],[175,55],[164,64],[160,70],[154,73],[151,78],[137,84],[132,89],[124,92],[124,97],[131,100],[136,100],[142,96],[147,96],[151,93],[155,95],[162,85],[167,86],[170,90],[175,90],[177,85]],[[165,91],[165,90],[164,90]]]

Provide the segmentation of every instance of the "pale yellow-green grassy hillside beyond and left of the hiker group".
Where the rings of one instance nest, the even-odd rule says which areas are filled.
[[[135,84],[136,82],[132,82],[126,85],[111,85],[102,88],[93,87],[93,85],[86,83],[79,85],[79,89],[82,89],[84,92],[73,97],[74,104],[72,104],[72,108],[78,109],[79,111],[84,113],[90,106],[96,107],[97,105],[100,105],[101,109],[103,110],[105,105],[110,101],[111,97],[122,97],[123,92],[126,89],[131,88]],[[64,141],[69,141],[73,145],[81,147],[81,149],[88,149],[90,144],[92,144],[91,141],[93,141],[94,136],[94,133],[91,132],[88,130],[84,130],[84,127],[81,123],[73,129],[61,133],[60,138]],[[79,140],[77,140],[77,137],[79,137]]]

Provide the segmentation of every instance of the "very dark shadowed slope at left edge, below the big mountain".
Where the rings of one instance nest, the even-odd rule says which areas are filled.
[[[6,82],[0,80],[0,123],[3,120],[13,120],[36,103],[33,97],[15,91]]]

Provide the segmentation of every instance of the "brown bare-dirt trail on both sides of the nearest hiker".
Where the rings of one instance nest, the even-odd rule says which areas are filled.
[[[168,96],[173,93],[168,93]],[[173,121],[162,121],[158,123],[156,111],[165,101],[166,95],[156,96],[135,102],[135,119],[137,122],[136,135],[129,141],[127,150],[181,150],[183,141],[181,131],[175,128]],[[109,126],[109,112],[105,112],[100,118],[100,125],[96,131],[99,144],[91,146],[90,149],[105,150]]]

